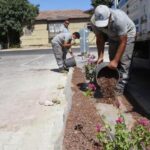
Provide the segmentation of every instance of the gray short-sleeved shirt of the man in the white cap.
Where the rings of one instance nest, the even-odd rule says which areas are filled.
[[[127,35],[127,37],[135,37],[136,28],[133,21],[128,15],[119,9],[110,9],[111,19],[108,24],[108,28],[98,28],[95,24],[94,16],[91,18],[93,31],[95,34],[99,32],[105,33],[109,39],[118,41],[119,36]]]

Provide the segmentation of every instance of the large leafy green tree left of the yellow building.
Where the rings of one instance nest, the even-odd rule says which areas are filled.
[[[39,12],[28,0],[0,0],[0,42],[19,42],[24,26],[32,26]]]

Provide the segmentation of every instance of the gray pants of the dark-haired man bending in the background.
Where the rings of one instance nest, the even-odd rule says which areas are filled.
[[[67,49],[63,48],[58,43],[52,43],[53,52],[57,61],[57,65],[59,68],[64,66],[64,61],[67,55]]]

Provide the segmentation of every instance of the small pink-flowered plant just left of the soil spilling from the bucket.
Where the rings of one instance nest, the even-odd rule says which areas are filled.
[[[86,91],[83,93],[85,96],[93,96],[94,92],[96,91],[96,86],[94,83],[89,83]]]

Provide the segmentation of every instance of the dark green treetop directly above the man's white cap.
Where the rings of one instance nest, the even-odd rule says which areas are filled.
[[[91,0],[91,5],[95,8],[98,5],[107,5],[111,6],[112,5],[112,0]]]

